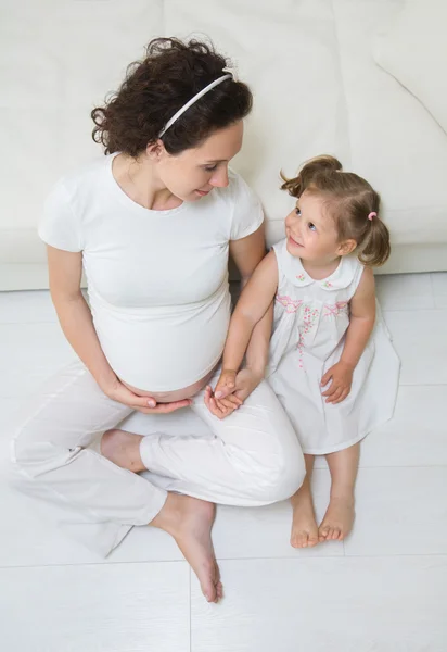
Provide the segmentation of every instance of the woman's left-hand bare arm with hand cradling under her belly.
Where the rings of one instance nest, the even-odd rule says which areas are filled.
[[[65,337],[102,391],[114,401],[144,413],[166,413],[186,408],[190,401],[156,405],[151,397],[139,397],[120,383],[101,348],[91,312],[80,291],[82,253],[48,249],[50,291]]]

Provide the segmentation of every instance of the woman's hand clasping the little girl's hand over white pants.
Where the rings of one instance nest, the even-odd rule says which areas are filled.
[[[242,405],[263,378],[264,374],[250,367],[241,369],[238,374],[224,369],[215,392],[213,393],[210,386],[206,388],[205,404],[212,414],[225,418]]]

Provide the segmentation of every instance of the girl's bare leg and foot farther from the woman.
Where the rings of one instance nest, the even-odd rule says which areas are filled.
[[[325,455],[331,472],[331,499],[318,529],[320,541],[342,541],[354,523],[354,488],[360,443]]]

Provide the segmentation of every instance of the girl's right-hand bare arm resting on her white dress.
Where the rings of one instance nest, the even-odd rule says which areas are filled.
[[[321,379],[322,387],[332,383],[323,397],[327,403],[340,403],[348,396],[353,373],[368,343],[375,322],[375,283],[370,267],[366,267],[349,303],[349,326],[340,361]]]

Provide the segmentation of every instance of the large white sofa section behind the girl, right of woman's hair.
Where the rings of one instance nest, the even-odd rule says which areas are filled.
[[[401,4],[258,0],[251,11],[240,0],[235,15],[220,0],[166,2],[168,32],[212,34],[254,91],[234,167],[264,203],[269,244],[283,237],[293,205],[279,190],[279,171],[292,175],[320,153],[335,154],[379,190],[394,244],[447,242],[447,138],[372,55],[379,28]]]

